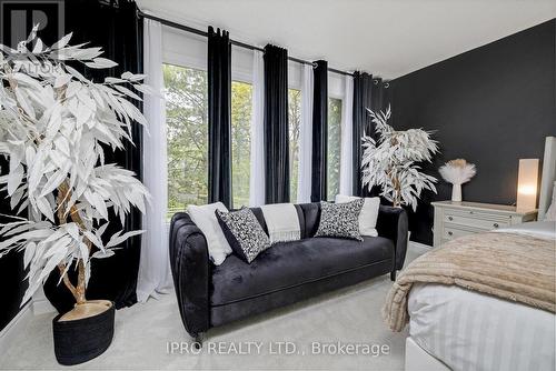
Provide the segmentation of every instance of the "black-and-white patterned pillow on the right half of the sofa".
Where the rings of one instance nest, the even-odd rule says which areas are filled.
[[[320,223],[315,237],[341,237],[363,241],[359,232],[359,213],[364,199],[346,203],[320,202]]]

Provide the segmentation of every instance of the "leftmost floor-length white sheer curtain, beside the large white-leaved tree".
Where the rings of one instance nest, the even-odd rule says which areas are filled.
[[[160,22],[145,19],[146,83],[163,94],[162,28]],[[143,134],[143,183],[152,195],[142,224],[141,260],[137,282],[137,300],[168,292],[172,287],[168,255],[168,172],[166,149],[166,107],[163,96],[145,96],[143,113],[149,124]]]

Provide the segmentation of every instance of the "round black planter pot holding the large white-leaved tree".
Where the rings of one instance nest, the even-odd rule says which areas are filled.
[[[105,312],[81,320],[62,321],[58,314],[52,320],[54,353],[58,363],[83,363],[102,354],[113,338],[115,305]]]

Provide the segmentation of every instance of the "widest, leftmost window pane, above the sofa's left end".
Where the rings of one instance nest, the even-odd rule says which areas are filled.
[[[168,214],[208,200],[207,72],[163,66],[168,130]]]

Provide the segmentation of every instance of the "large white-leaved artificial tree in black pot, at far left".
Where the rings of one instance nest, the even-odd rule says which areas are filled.
[[[126,72],[101,82],[86,79],[69,64],[105,69],[117,63],[99,57],[100,48],[69,46],[70,38],[48,48],[34,27],[17,50],[0,46],[0,156],[9,159],[0,184],[18,214],[0,224],[0,257],[23,251],[29,287],[22,303],[53,270],[60,272],[59,283],[76,300],[52,322],[62,364],[97,357],[110,344],[113,303],[86,297],[91,260],[112,255],[121,242],[142,232],[120,231],[108,239],[109,210],[123,225],[132,207],[145,212],[149,198],[131,171],[105,163],[105,150],[132,141],[132,122],[146,123],[129,101],[141,99],[131,89],[148,91],[145,77]],[[70,270],[78,271],[73,282]]]

